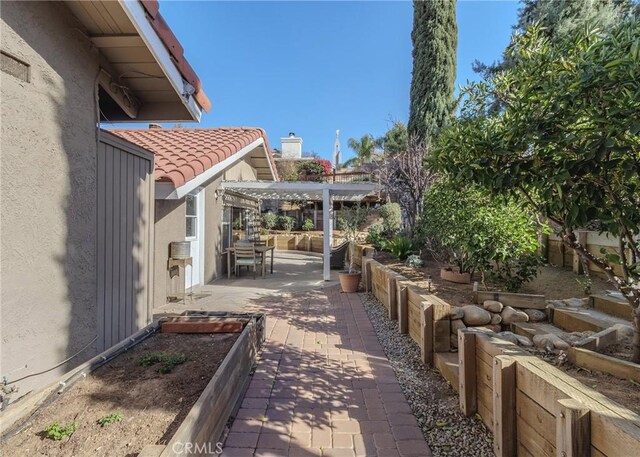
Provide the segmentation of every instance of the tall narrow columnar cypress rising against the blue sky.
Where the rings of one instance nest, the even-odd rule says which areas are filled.
[[[409,133],[425,140],[455,111],[458,26],[455,0],[413,2],[413,78]]]

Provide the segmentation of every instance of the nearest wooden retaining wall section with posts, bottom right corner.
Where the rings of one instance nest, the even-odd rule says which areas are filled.
[[[493,431],[497,456],[639,455],[637,414],[512,343],[458,341],[460,407]]]

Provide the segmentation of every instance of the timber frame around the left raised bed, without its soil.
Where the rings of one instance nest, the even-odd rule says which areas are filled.
[[[177,443],[192,443],[195,449],[215,450],[229,417],[242,399],[249,374],[256,364],[258,351],[265,339],[265,320],[262,314],[186,312],[178,317],[153,322],[135,335],[65,374],[55,384],[17,403],[16,408],[3,411],[1,431],[3,435],[11,432],[29,419],[34,408],[46,407],[52,398],[71,389],[76,382],[90,375],[92,371],[117,359],[140,342],[152,337],[155,332],[161,330],[164,333],[239,333],[167,445],[143,446],[139,455],[183,455],[183,447]],[[169,325],[166,325],[167,323]],[[177,391],[176,395],[179,393]]]

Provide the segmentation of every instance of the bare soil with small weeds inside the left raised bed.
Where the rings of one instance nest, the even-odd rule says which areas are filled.
[[[42,408],[25,430],[2,443],[3,455],[127,456],[148,444],[166,444],[227,355],[238,334],[157,334],[78,382]],[[187,360],[168,374],[141,367],[145,354],[182,353]],[[120,422],[97,420],[121,413]],[[70,438],[53,441],[44,429],[77,423]]]

